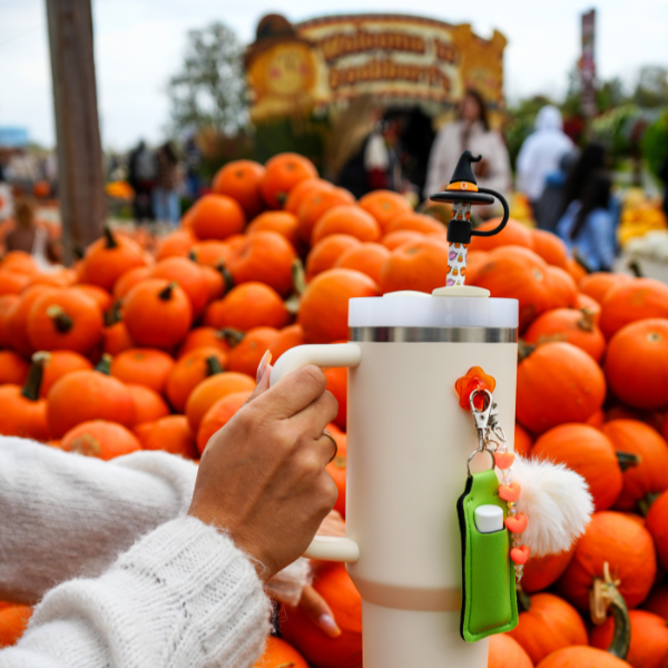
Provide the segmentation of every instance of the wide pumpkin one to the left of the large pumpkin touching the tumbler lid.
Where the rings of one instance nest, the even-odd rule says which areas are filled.
[[[244,283],[225,297],[208,305],[204,314],[207,327],[234,327],[242,332],[253,327],[276,327],[289,322],[289,313],[281,295],[263,283]]]

